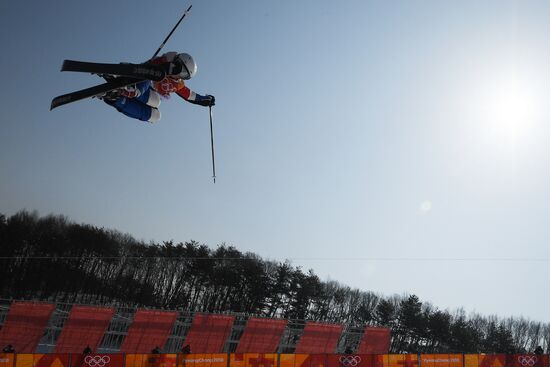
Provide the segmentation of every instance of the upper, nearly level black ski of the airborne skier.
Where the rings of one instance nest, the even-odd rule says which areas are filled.
[[[136,79],[160,81],[166,76],[167,65],[153,64],[104,64],[75,60],[63,61],[61,71],[117,75]]]

